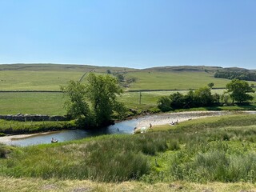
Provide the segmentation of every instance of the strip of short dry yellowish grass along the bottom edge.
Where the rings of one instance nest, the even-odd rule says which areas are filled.
[[[56,180],[42,178],[9,178],[0,177],[2,191],[254,191],[256,185],[251,183],[221,183],[208,182],[160,182],[148,184],[145,182],[91,182],[89,180]]]

